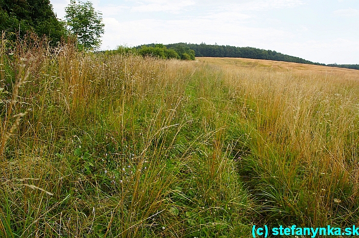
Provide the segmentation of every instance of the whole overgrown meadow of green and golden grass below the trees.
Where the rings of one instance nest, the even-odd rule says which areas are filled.
[[[0,237],[358,224],[359,71],[0,53]]]

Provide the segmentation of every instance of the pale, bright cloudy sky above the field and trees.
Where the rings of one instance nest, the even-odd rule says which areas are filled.
[[[50,0],[65,18],[70,0]],[[103,50],[150,43],[275,50],[320,63],[359,64],[359,0],[93,0]]]

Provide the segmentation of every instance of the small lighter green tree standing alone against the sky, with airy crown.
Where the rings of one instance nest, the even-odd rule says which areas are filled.
[[[79,44],[87,50],[98,48],[105,33],[102,13],[96,12],[91,2],[76,3],[75,0],[71,0],[65,12],[69,30],[77,36]]]

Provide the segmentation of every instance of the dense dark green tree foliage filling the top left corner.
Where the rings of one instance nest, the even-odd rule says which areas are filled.
[[[50,0],[0,0],[2,31],[46,35],[53,45],[66,35],[65,24],[56,18]]]

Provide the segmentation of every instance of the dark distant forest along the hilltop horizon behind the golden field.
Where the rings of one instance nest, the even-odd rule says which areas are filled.
[[[146,45],[154,46],[154,44]],[[359,70],[359,64],[324,64],[318,62],[312,62],[305,60],[299,57],[294,57],[290,55],[285,55],[271,50],[261,50],[253,47],[234,47],[234,46],[218,46],[218,45],[206,45],[202,43],[197,44],[187,44],[187,43],[177,43],[166,45],[168,49],[175,49],[177,47],[185,47],[191,50],[194,50],[195,56],[198,57],[231,57],[231,58],[250,58],[250,59],[270,59],[276,61],[286,61],[286,62],[295,62],[295,63],[307,63],[315,64],[320,66],[330,66],[330,67],[340,67],[347,69],[356,69]]]

